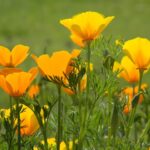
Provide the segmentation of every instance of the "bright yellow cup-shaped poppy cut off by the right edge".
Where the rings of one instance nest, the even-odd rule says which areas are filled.
[[[138,69],[148,69],[150,65],[150,41],[145,38],[134,38],[123,45],[123,50]]]

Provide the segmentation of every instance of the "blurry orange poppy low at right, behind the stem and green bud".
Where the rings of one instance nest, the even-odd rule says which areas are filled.
[[[145,90],[147,87],[148,87],[147,84],[142,84],[141,89]],[[123,94],[128,96],[127,105],[124,106],[124,110],[123,110],[123,112],[125,114],[128,114],[131,111],[131,109],[132,109],[132,100],[133,100],[134,96],[137,93],[138,93],[138,86],[136,86],[134,89],[132,87],[128,87],[128,88],[125,88],[123,90]],[[141,104],[143,99],[144,99],[143,94],[141,94],[140,97],[139,97],[138,103]]]

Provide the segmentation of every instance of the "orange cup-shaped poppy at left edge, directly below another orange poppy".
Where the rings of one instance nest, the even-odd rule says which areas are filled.
[[[37,74],[37,68],[32,68],[29,72],[13,72],[0,75],[0,87],[13,97],[22,96]]]

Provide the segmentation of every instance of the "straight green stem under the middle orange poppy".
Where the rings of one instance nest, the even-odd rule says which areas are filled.
[[[58,85],[58,131],[57,131],[57,150],[60,150],[62,140],[62,102],[61,102],[61,86]]]

